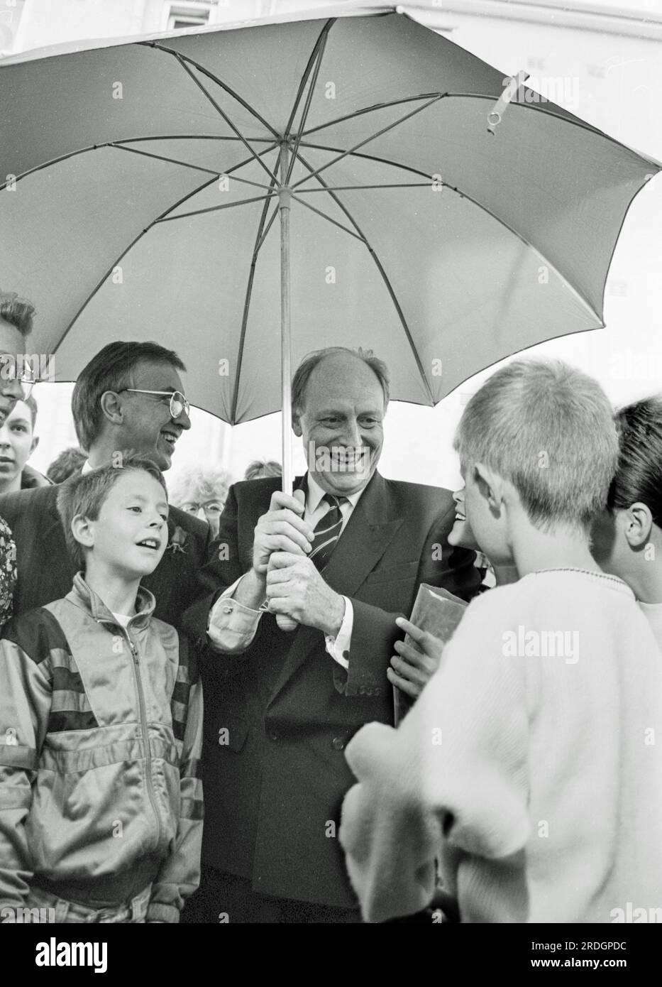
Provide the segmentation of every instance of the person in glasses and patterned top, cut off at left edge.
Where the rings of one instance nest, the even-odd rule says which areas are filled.
[[[31,302],[16,292],[0,291],[0,426],[18,401],[30,397],[35,384],[30,367],[21,367],[34,316]],[[0,627],[12,616],[16,584],[16,544],[10,526],[0,516]]]

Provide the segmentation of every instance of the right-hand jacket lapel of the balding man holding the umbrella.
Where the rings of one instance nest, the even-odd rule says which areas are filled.
[[[326,581],[336,593],[353,596],[375,568],[405,518],[397,510],[386,483],[378,473],[368,484],[347,521],[325,569]],[[320,631],[300,627],[294,638],[271,694],[271,702],[309,654],[320,647]],[[331,655],[329,660],[332,661]]]

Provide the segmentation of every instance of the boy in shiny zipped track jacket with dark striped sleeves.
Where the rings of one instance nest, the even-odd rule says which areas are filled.
[[[197,670],[140,585],[166,550],[168,497],[145,457],[116,464],[60,488],[82,571],[0,641],[4,916],[178,922],[199,879]]]

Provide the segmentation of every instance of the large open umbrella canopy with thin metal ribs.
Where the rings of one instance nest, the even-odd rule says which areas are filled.
[[[0,283],[37,305],[32,348],[71,380],[156,340],[231,423],[281,407],[279,204],[292,362],[371,347],[433,405],[603,325],[660,169],[525,87],[490,130],[503,73],[395,12],[54,49],[0,85]]]

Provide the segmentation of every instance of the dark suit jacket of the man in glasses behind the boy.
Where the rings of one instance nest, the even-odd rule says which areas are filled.
[[[19,579],[14,613],[17,616],[61,599],[71,589],[76,567],[69,558],[57,513],[58,490],[57,486],[37,487],[0,496],[0,517],[9,524],[16,543]],[[176,627],[184,610],[200,596],[196,576],[207,558],[211,541],[208,524],[178,507],[171,507],[169,543],[177,527],[185,532],[184,551],[166,549],[157,568],[142,580],[156,597],[155,616]]]

